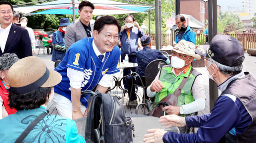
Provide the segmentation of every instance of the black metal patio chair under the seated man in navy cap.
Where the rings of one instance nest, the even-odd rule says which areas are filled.
[[[137,75],[138,78],[140,79],[141,85],[137,85],[137,84],[134,84],[134,81],[133,81],[133,78],[132,78],[132,85],[141,87],[143,89],[146,89],[151,84],[151,82],[153,82],[153,80],[157,76],[158,71],[164,65],[166,65],[166,62],[164,60],[162,60],[162,59],[157,59],[157,60],[151,61],[146,66],[146,69],[145,69],[145,84],[142,81],[142,79],[141,79],[141,77],[140,77],[140,75],[138,73],[133,72],[132,74],[128,75],[128,76]],[[133,88],[133,86],[132,86],[132,88]],[[131,93],[130,93],[130,95],[131,95]],[[143,98],[142,103],[138,104],[137,107],[136,107],[136,112],[135,112],[136,114],[138,114],[139,108],[140,109],[144,108],[144,110],[142,111],[144,115],[147,114],[145,108],[147,109],[147,112],[149,112],[149,107],[148,107],[147,104],[145,104],[145,92],[144,92],[144,90],[143,90],[143,97],[144,98]],[[129,104],[130,104],[130,98],[129,98],[129,101],[128,101],[128,107],[129,107]]]

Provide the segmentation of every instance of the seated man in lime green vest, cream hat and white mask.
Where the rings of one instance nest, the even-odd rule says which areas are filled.
[[[202,75],[191,66],[194,58],[201,59],[200,55],[195,54],[195,49],[196,46],[192,42],[180,40],[173,49],[171,64],[163,66],[147,88],[147,95],[155,97],[154,107],[156,107],[163,98],[175,92],[183,78],[187,79],[177,97],[177,105],[163,107],[162,111],[167,115],[184,116],[204,110],[206,98]],[[185,132],[185,127],[179,129],[181,133]]]

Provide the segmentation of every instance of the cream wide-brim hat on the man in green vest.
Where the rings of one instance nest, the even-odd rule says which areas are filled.
[[[197,60],[201,59],[201,56],[195,53],[196,45],[184,39],[180,40],[180,42],[175,45],[173,50],[180,54],[190,55]]]

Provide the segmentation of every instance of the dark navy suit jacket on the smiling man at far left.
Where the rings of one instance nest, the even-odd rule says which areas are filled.
[[[12,24],[4,53],[0,50],[0,55],[5,53],[15,53],[20,59],[32,55],[29,33],[25,28]]]

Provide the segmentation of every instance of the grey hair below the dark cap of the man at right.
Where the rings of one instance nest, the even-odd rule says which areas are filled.
[[[225,76],[233,76],[233,75],[239,74],[243,69],[243,65],[242,65],[243,60],[244,60],[244,57],[239,58],[237,62],[241,63],[241,65],[232,67],[232,66],[222,65],[217,61],[209,58],[209,61],[215,63],[215,65],[219,68],[221,73],[224,74]]]

